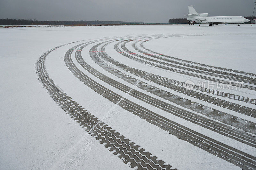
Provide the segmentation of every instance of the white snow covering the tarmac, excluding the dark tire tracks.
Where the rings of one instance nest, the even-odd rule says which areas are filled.
[[[177,169],[255,168],[256,118],[253,115],[256,114],[256,104],[254,103],[256,92],[252,90],[256,87],[256,81],[254,80],[256,78],[255,29],[255,25],[241,25],[240,27],[236,25],[218,25],[214,27],[208,27],[206,25],[200,25],[200,27],[197,25],[183,25],[182,27],[181,25],[123,25],[1,28],[1,169],[130,169],[129,163],[123,163],[125,159],[122,155],[115,155],[109,152],[109,148],[105,148],[104,145],[95,140],[95,137],[84,131],[70,115],[67,115],[52,100],[48,92],[45,91],[45,87],[43,88],[41,85],[42,80],[41,83],[38,80],[40,73],[36,73],[38,69],[36,63],[38,63],[40,56],[50,49],[54,50],[42,62],[45,62],[46,71],[59,88],[75,102],[99,118],[101,122],[108,124],[108,126],[124,135],[125,138],[128,138],[136,145],[152,153],[151,156],[154,155],[159,160],[163,160],[165,164],[169,164],[172,168]],[[72,70],[72,68],[67,67],[69,63],[67,61],[64,62],[65,59],[68,59],[65,54],[69,49],[92,40],[99,41],[85,46],[80,51],[81,56],[89,66],[99,71],[100,74],[107,76],[108,79],[100,79],[99,73],[97,73],[99,76],[95,76],[96,72],[90,72],[90,68],[85,69],[83,67],[77,59],[79,57],[77,54],[79,51],[77,50],[80,46],[77,46],[70,53],[70,59],[76,68]],[[206,97],[207,100],[204,100],[204,96],[203,98],[196,98],[193,95],[186,95],[177,89],[170,89],[167,86],[163,86],[157,79],[151,80],[150,78],[146,79],[146,77],[140,76],[140,74],[135,75],[129,72],[129,70],[119,67],[117,62],[124,64],[126,67],[136,68],[137,70],[134,71],[138,71],[138,73],[145,71],[149,72],[148,76],[154,76],[153,74],[155,74],[163,78],[168,78],[168,80],[166,79],[167,83],[171,82],[172,79],[180,82],[191,80],[196,84],[197,81],[208,82],[210,79],[216,78],[216,76],[210,75],[210,73],[208,75],[208,73],[204,74],[203,72],[198,72],[198,74],[196,72],[197,77],[191,76],[195,73],[193,70],[186,71],[189,75],[182,74],[179,71],[184,69],[178,67],[179,64],[177,63],[174,63],[174,66],[170,66],[171,60],[169,61],[169,59],[161,63],[160,61],[163,61],[162,58],[156,59],[154,56],[148,55],[154,54],[150,51],[139,53],[132,47],[132,44],[137,40],[144,41],[143,46],[156,53],[214,66],[212,70],[215,71],[221,70],[217,67],[235,70],[237,72],[221,70],[226,72],[225,76],[227,74],[230,76],[230,79],[218,76],[217,78],[223,81],[233,81],[235,78],[239,78],[239,80],[244,79],[247,80],[244,85],[252,89],[219,90],[220,92],[244,97],[241,100],[237,100],[236,97],[214,96],[212,94],[213,92],[211,93],[209,91],[196,91],[196,93],[214,96],[217,98],[216,100],[222,99],[228,101],[226,102],[226,107],[226,103],[224,105],[214,104],[213,102],[209,102],[208,97]],[[100,50],[101,46],[108,43],[105,41],[109,41],[109,44],[105,46],[105,51],[102,52]],[[118,49],[114,48],[116,43],[123,43],[125,41],[127,41],[125,47],[132,53],[127,52],[122,44],[116,46]],[[54,48],[71,42],[75,43],[61,46],[57,49]],[[143,50],[139,43],[135,44],[135,46]],[[94,46],[97,44],[98,46],[94,49]],[[133,55],[134,53],[140,56]],[[107,56],[106,54],[112,59],[104,58]],[[126,57],[124,54],[130,55],[133,58]],[[118,77],[113,71],[96,63],[96,59],[93,60],[93,57],[101,58],[109,66],[113,67],[112,70],[116,69],[122,73]],[[147,59],[141,57],[147,57]],[[153,59],[158,62],[153,61]],[[139,60],[145,62],[139,62]],[[154,67],[147,64],[147,62],[153,63]],[[186,64],[185,61],[180,62]],[[198,66],[195,63],[191,65],[193,67]],[[171,68],[176,68],[176,66],[178,71],[170,70]],[[184,67],[190,69],[192,66],[186,65]],[[196,71],[205,68],[209,67],[196,67]],[[186,127],[193,132],[198,132],[198,138],[207,139],[213,142],[213,145],[208,146],[210,142],[198,142],[198,145],[194,144],[193,141],[196,142],[194,139],[188,137],[192,141],[189,142],[182,135],[178,136],[169,131],[170,129],[164,129],[162,127],[163,124],[161,124],[164,121],[160,125],[157,125],[154,124],[154,121],[143,118],[143,115],[134,114],[136,111],[131,111],[133,109],[130,107],[131,102],[124,103],[123,106],[117,105],[116,103],[119,104],[119,102],[115,103],[111,101],[111,97],[109,98],[103,95],[99,92],[99,89],[93,89],[85,85],[83,81],[85,80],[83,79],[84,77],[76,77],[76,74],[74,76],[71,71],[76,71],[76,69],[81,70],[92,81],[99,83],[113,93],[138,104],[139,109],[146,108],[166,118],[167,122],[173,121],[178,124],[177,126]],[[249,75],[245,72],[252,74]],[[221,76],[224,75],[222,74],[220,73]],[[233,74],[236,74],[236,76],[233,76]],[[127,76],[147,83],[147,86],[151,86],[153,90],[143,89],[142,86],[134,86],[131,83],[131,79],[127,78]],[[208,78],[204,79],[202,76]],[[108,81],[104,81],[110,79],[120,82],[122,84],[120,89],[111,84],[113,81],[109,81],[109,83]],[[216,85],[214,86],[216,89]],[[132,88],[136,90],[134,92],[135,95],[141,96],[141,94],[145,94],[156,99],[154,102],[165,102],[165,104],[161,106],[160,104],[153,105],[153,101],[152,103],[148,103],[146,99],[142,100],[138,96],[127,94],[121,90],[121,87]],[[173,95],[180,96],[184,98],[182,99],[184,102],[182,100],[177,101],[175,97],[164,97],[162,93],[157,95],[154,88],[158,88],[164,93],[172,93]],[[251,102],[244,101],[246,97],[251,98]],[[121,102],[123,100],[121,99]],[[189,100],[204,105],[203,109],[198,109],[195,104],[186,104]],[[244,114],[232,108],[232,103],[236,103],[237,105],[234,108],[240,108],[240,110],[244,111]],[[165,106],[175,106],[182,110],[187,110],[189,114],[193,114],[195,117],[199,116],[200,120],[202,118],[204,121],[212,121],[213,124],[216,123],[217,127],[223,125],[225,127],[223,129],[226,130],[225,133],[229,134],[232,132],[237,137],[236,135],[224,135],[222,134],[222,130],[214,131],[214,128],[210,128],[210,125],[209,127],[203,126],[201,124],[204,123],[196,123],[197,120],[193,119],[192,121],[192,118],[191,120],[185,119],[180,116],[182,114],[170,114],[171,112],[164,110]],[[127,107],[128,109],[126,109]],[[221,112],[214,115],[209,111],[210,109]],[[181,112],[183,113],[184,111]],[[231,121],[230,117],[232,116],[236,116],[236,118]],[[246,136],[246,138],[244,137],[245,139],[240,138],[243,135]],[[196,136],[194,137],[197,138]],[[238,159],[237,156],[232,157],[230,160],[230,155],[227,154],[228,152],[222,153],[216,150],[215,153],[211,153],[210,149],[215,146],[217,147],[217,144],[214,143],[215,140],[221,143],[219,149],[228,145],[227,148],[230,149],[229,154],[231,157],[234,154],[240,154],[244,163],[240,165],[236,164],[236,162],[240,161],[240,158]],[[210,149],[207,150],[207,147]],[[132,164],[134,165],[134,163]],[[138,166],[138,168],[140,167]]]

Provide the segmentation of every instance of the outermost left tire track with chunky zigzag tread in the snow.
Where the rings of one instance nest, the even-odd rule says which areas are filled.
[[[110,152],[118,155],[124,163],[129,164],[132,168],[137,166],[138,169],[170,169],[172,166],[166,165],[162,160],[156,160],[156,156],[151,157],[151,153],[144,152],[145,149],[140,148],[139,145],[135,145],[135,143],[125,138],[107,124],[103,122],[98,124],[99,119],[97,117],[93,116],[81,105],[76,103],[54,83],[45,68],[45,59],[49,53],[61,46],[57,46],[45,52],[36,63],[37,77],[52,99],[87,132],[94,136],[96,140],[108,148]],[[71,50],[67,52],[67,55],[68,53],[72,53]]]

